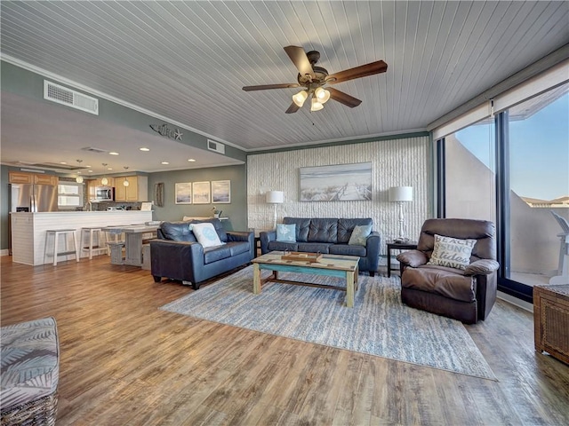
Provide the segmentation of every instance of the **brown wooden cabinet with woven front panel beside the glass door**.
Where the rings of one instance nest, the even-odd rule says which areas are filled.
[[[569,285],[533,287],[535,351],[569,364]]]

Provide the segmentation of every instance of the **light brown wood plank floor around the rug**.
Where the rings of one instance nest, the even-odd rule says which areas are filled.
[[[569,424],[569,367],[505,302],[467,327],[494,382],[159,311],[193,290],[108,256],[1,266],[3,326],[57,319],[59,426]]]

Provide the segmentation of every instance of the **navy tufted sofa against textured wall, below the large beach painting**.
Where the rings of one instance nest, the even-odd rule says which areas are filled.
[[[359,270],[373,277],[380,262],[381,237],[372,232],[365,246],[350,245],[349,237],[357,225],[373,225],[371,218],[337,219],[284,217],[284,225],[295,225],[296,241],[276,241],[276,230],[259,233],[261,254],[269,251],[301,251],[331,255],[359,256]]]

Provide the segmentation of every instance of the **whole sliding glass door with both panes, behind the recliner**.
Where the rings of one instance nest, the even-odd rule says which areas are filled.
[[[497,225],[501,290],[526,301],[565,258],[559,221],[569,221],[568,117],[565,83],[444,139],[445,217]]]

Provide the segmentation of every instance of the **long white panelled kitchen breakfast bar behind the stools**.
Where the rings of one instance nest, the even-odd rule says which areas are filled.
[[[51,257],[44,261],[45,232],[48,229],[76,229],[76,241],[79,243],[81,228],[84,227],[141,225],[152,220],[152,211],[141,210],[12,212],[10,215],[12,262],[33,266],[52,263]],[[89,256],[78,249],[81,256]],[[60,257],[60,261],[68,259],[75,259],[75,256]]]

